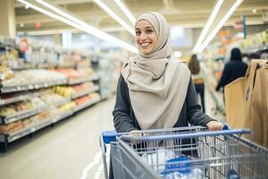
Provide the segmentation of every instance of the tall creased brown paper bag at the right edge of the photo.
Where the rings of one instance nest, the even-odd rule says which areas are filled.
[[[264,79],[262,66],[267,60],[253,60],[247,68],[246,91],[245,91],[245,120],[244,128],[250,128],[253,131],[253,141],[264,145],[267,133],[267,113],[264,105]],[[261,78],[262,77],[262,78]]]

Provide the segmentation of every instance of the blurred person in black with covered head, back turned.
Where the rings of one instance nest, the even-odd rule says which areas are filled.
[[[247,72],[247,64],[242,61],[242,55],[238,47],[231,49],[230,62],[224,65],[222,77],[219,81],[216,90],[224,91],[224,86],[228,85],[231,81],[235,81],[239,77],[245,76]]]

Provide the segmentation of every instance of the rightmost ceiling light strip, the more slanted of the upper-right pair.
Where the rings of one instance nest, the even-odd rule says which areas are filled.
[[[230,17],[230,15],[237,9],[237,7],[239,6],[239,4],[241,4],[243,2],[243,0],[237,0],[235,4],[233,4],[230,8],[230,10],[228,11],[228,13],[226,13],[224,15],[224,17],[222,18],[222,21],[220,21],[217,26],[214,28],[214,30],[212,31],[212,33],[205,39],[204,43],[202,44],[202,46],[198,49],[198,52],[201,53],[203,52],[203,50],[205,49],[205,47],[207,47],[207,45],[209,44],[209,42],[214,38],[214,36],[216,35],[216,33],[221,30],[222,25],[225,23],[225,21],[227,21]]]

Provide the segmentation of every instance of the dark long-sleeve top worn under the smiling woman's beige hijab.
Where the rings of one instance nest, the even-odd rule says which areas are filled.
[[[174,127],[188,126],[188,124],[205,126],[205,124],[210,121],[214,121],[214,119],[201,112],[201,107],[197,103],[197,93],[190,79],[188,82],[187,96]],[[129,88],[122,76],[120,76],[118,81],[116,102],[113,109],[113,122],[117,132],[140,130],[138,121],[131,107]]]

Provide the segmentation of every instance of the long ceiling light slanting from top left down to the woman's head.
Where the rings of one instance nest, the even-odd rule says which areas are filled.
[[[29,3],[29,2],[27,2],[25,0],[17,0],[17,1],[21,2],[22,4],[26,4],[29,7],[31,7],[32,9],[35,9],[40,13],[44,13],[44,14],[46,14],[46,15],[48,15],[48,16],[50,16],[50,17],[52,17],[52,18],[54,18],[54,19],[56,19],[58,21],[63,21],[64,23],[66,23],[68,25],[71,25],[72,27],[74,27],[74,28],[76,28],[78,30],[86,31],[89,34],[96,36],[97,38],[101,38],[101,39],[104,39],[105,41],[109,41],[109,42],[115,44],[116,46],[119,46],[119,47],[122,47],[124,49],[129,50],[132,53],[136,53],[136,54],[138,53],[137,47],[133,47],[130,44],[128,44],[128,43],[126,43],[126,42],[124,42],[124,41],[122,41],[122,40],[120,40],[118,38],[113,38],[113,36],[110,36],[110,35],[106,34],[105,32],[103,32],[101,30],[98,30],[98,29],[88,25],[87,23],[85,23],[83,21],[78,20],[77,18],[71,16],[70,14],[68,14],[66,16],[66,13],[64,13],[63,11],[57,9],[53,5],[49,4],[50,7],[52,7],[54,10],[57,11],[57,13],[61,13],[63,16],[70,17],[72,21],[70,21],[69,19],[64,18],[63,16],[59,16],[57,14],[50,13],[50,12],[46,11],[45,9],[42,9],[42,8],[38,7],[37,5],[31,4],[31,3]],[[41,3],[41,2],[44,3],[44,4],[46,3],[44,1],[38,0],[38,3]],[[48,7],[48,6],[46,6],[46,7]],[[50,8],[50,9],[52,9],[52,8]]]

